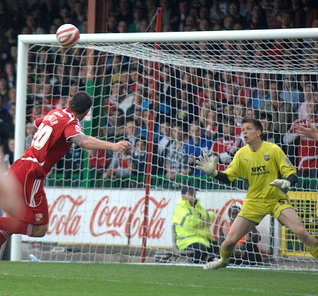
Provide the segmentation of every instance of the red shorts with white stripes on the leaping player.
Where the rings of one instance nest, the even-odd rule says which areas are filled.
[[[13,211],[8,214],[34,225],[47,225],[49,211],[42,167],[38,162],[19,159],[11,165],[10,173],[21,185],[23,194],[20,194],[20,203],[23,203],[23,208],[19,213]]]

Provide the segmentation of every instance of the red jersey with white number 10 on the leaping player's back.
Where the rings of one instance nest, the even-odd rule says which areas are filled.
[[[51,110],[35,119],[35,126],[37,132],[21,159],[38,162],[44,172],[42,177],[46,177],[52,166],[71,148],[70,138],[83,134],[83,131],[69,108]]]

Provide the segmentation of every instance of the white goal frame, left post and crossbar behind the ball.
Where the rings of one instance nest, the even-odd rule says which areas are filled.
[[[279,30],[241,30],[241,31],[206,31],[206,32],[146,32],[114,34],[81,34],[80,43],[108,42],[199,42],[227,40],[277,40],[297,38],[318,38],[318,28],[279,29]],[[16,85],[16,147],[14,158],[24,153],[25,143],[25,108],[28,77],[28,47],[33,44],[57,45],[56,35],[19,35],[18,66]],[[152,57],[149,57],[152,59]],[[153,58],[155,59],[155,57]],[[21,235],[13,235],[11,240],[11,260],[21,260]]]

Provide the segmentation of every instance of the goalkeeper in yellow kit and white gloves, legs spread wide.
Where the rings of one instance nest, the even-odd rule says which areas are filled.
[[[208,155],[204,154],[196,160],[197,169],[220,182],[229,183],[242,177],[249,184],[242,211],[220,247],[220,259],[208,262],[204,268],[218,269],[227,266],[235,244],[267,214],[289,227],[305,244],[310,254],[318,259],[318,241],[307,232],[288,201],[287,191],[297,182],[295,167],[280,147],[261,140],[262,126],[259,120],[245,117],[242,120],[242,133],[247,146],[237,151],[224,172],[216,170],[216,157],[210,161]]]

